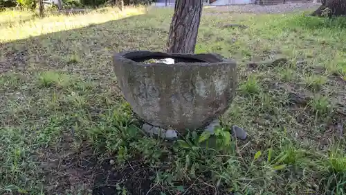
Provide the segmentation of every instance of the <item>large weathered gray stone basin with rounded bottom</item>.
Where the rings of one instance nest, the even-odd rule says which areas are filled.
[[[164,58],[177,63],[143,63]],[[113,65],[132,110],[164,129],[206,126],[224,114],[237,88],[236,62],[212,54],[133,51],[116,53]]]

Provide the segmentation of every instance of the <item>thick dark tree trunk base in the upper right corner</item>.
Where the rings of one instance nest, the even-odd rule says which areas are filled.
[[[322,0],[322,6],[311,15],[322,17],[346,16],[345,0]],[[327,10],[325,10],[328,8]]]

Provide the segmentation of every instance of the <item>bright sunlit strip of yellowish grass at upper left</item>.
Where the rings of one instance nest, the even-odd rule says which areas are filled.
[[[9,15],[15,17],[17,12],[15,10],[8,10]],[[6,12],[1,15],[6,15]],[[122,19],[132,15],[142,15],[145,13],[144,7],[128,7],[120,11],[118,8],[104,8],[102,12],[95,10],[85,14],[79,15],[49,15],[42,19],[30,16],[28,13],[26,17],[34,17],[33,19],[23,22],[15,22],[14,20],[6,20],[5,22],[12,22],[11,25],[6,25],[3,28],[0,26],[0,42],[9,42],[12,40],[24,39],[30,36],[44,35],[47,33],[55,33],[59,31],[71,30],[74,28],[81,28],[91,24],[101,24],[112,20]],[[2,19],[1,19],[2,20]],[[0,22],[1,22],[0,20]]]

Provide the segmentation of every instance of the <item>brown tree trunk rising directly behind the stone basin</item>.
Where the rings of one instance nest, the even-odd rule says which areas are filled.
[[[176,0],[167,40],[168,53],[194,53],[202,6],[202,0]]]

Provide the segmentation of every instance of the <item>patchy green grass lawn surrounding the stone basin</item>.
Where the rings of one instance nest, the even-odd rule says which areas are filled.
[[[196,52],[237,60],[237,96],[215,136],[167,142],[143,136],[111,56],[163,51],[171,17],[0,13],[0,194],[345,194],[345,18],[203,10]]]

